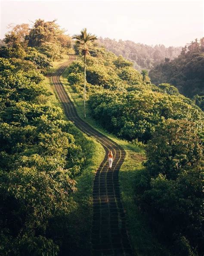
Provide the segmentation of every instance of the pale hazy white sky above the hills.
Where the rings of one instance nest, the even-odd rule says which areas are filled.
[[[57,23],[68,34],[86,27],[97,36],[143,44],[184,45],[204,36],[203,1],[0,0],[0,38],[9,23]]]

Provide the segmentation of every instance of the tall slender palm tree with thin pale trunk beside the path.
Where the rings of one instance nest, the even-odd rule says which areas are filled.
[[[96,35],[87,33],[87,28],[83,28],[79,35],[73,35],[72,39],[76,39],[76,44],[83,46],[83,56],[84,56],[84,92],[83,92],[83,107],[84,107],[84,118],[86,118],[86,56],[88,53],[87,42],[97,40]]]

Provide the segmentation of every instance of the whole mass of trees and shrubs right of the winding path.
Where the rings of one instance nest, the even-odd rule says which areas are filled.
[[[124,57],[91,43],[89,53],[91,115],[109,132],[147,144],[145,168],[135,180],[136,203],[169,255],[203,255],[201,109],[173,85],[151,84],[147,72]],[[82,96],[82,60],[71,64],[68,81]]]

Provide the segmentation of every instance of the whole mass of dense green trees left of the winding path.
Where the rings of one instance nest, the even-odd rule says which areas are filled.
[[[43,83],[42,73],[56,59],[46,51],[59,47],[51,42],[58,38],[57,32],[53,39],[57,29],[54,22],[42,20],[31,30],[27,25],[16,26],[0,48],[2,256],[64,255],[73,237],[69,198],[93,145],[64,120]],[[40,33],[45,32],[42,40]]]

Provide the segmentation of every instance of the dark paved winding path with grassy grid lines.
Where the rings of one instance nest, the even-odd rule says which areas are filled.
[[[124,161],[125,151],[120,145],[93,129],[78,116],[74,104],[60,81],[63,71],[75,59],[74,55],[69,57],[69,60],[51,76],[51,81],[68,120],[74,122],[83,133],[100,142],[105,149],[105,157],[96,172],[93,185],[91,253],[92,256],[132,256],[118,183],[118,172]],[[109,149],[114,155],[111,170],[108,169],[107,161]]]

